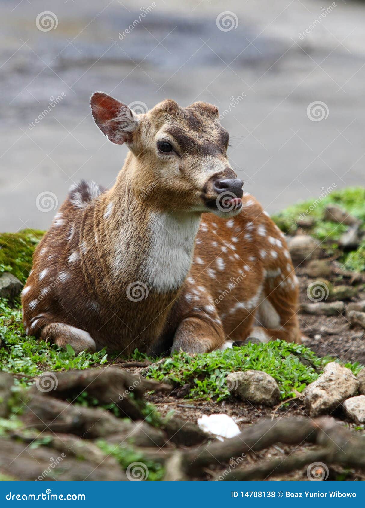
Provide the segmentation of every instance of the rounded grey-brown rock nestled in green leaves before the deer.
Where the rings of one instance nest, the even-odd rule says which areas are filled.
[[[231,372],[227,376],[227,385],[242,400],[258,404],[273,405],[280,397],[276,380],[261,370]]]

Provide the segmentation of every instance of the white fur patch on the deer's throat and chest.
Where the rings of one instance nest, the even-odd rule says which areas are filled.
[[[147,286],[160,292],[178,289],[191,266],[200,217],[184,212],[151,213]]]

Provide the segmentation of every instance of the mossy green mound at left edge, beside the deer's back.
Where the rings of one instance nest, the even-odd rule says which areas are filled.
[[[0,234],[0,272],[11,271],[25,282],[32,269],[32,256],[44,231],[24,229]]]

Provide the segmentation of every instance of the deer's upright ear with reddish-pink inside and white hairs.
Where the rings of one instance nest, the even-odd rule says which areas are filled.
[[[90,106],[95,123],[109,141],[123,145],[132,140],[138,118],[128,106],[104,92],[93,93]]]

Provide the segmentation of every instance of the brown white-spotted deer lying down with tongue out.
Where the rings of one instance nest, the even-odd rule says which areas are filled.
[[[137,115],[102,92],[91,108],[130,151],[111,189],[81,181],[56,213],[22,292],[26,333],[124,354],[299,342],[284,236],[243,193],[218,109],[165,100]]]

